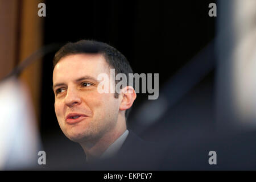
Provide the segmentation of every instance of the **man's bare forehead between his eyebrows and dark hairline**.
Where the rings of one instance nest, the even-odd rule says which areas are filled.
[[[101,54],[76,54],[60,59],[53,69],[53,82],[65,81],[81,76],[97,78],[100,73],[109,75],[110,68]]]

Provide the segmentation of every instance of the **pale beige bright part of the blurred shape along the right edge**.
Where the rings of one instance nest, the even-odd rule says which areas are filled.
[[[256,1],[236,1],[234,27],[235,102],[241,121],[256,126]]]

